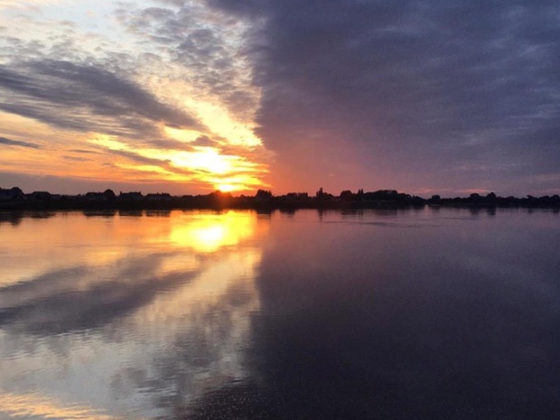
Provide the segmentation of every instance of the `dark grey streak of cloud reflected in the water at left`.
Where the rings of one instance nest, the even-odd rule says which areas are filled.
[[[45,272],[25,283],[6,286],[0,299],[0,325],[17,325],[37,335],[83,331],[114,321],[150,303],[163,288],[182,285],[196,273],[163,275],[154,282],[154,267],[163,259],[130,261],[119,270],[120,280],[92,280],[83,267]],[[88,287],[75,289],[71,280],[87,278]],[[129,279],[134,278],[135,282]],[[71,299],[61,299],[63,294]]]

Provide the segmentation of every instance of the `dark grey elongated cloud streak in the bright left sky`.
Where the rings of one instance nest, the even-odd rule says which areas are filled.
[[[107,134],[154,132],[159,122],[200,128],[134,81],[91,64],[27,61],[0,67],[0,109],[53,126]]]

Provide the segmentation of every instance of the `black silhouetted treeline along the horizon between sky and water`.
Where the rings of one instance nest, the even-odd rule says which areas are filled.
[[[0,210],[80,210],[80,209],[364,209],[402,208],[424,206],[446,207],[526,207],[560,208],[560,196],[524,198],[499,197],[494,192],[487,195],[472,193],[469,197],[442,198],[433,195],[424,199],[396,190],[352,192],[341,191],[334,195],[316,191],[289,192],[274,195],[272,191],[258,190],[255,195],[233,196],[229,192],[214,191],[201,195],[173,196],[167,192],[142,194],[139,191],[120,192],[108,189],[79,195],[51,194],[48,191],[23,193],[17,187],[0,188]]]

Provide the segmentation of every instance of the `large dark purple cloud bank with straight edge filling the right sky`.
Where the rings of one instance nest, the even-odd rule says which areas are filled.
[[[534,165],[560,161],[557,134],[541,137],[545,127],[560,132],[555,2],[210,5],[264,22],[247,50],[263,88],[260,134],[280,154],[319,130],[322,142],[359,151],[357,164],[378,156],[419,176],[426,162],[442,175],[479,160],[504,163],[513,149],[518,163],[526,152]]]

